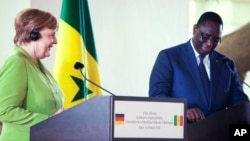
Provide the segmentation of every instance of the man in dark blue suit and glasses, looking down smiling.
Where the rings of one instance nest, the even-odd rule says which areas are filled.
[[[189,41],[160,51],[150,76],[149,96],[185,98],[188,122],[248,101],[234,62],[214,50],[222,30],[221,17],[205,12],[193,26]]]

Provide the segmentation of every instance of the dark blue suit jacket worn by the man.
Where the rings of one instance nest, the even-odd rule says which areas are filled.
[[[234,62],[228,61],[231,72],[223,58],[217,51],[210,53],[211,87],[207,98],[190,41],[162,50],[150,76],[149,96],[185,98],[188,108],[199,107],[205,116],[248,100]]]

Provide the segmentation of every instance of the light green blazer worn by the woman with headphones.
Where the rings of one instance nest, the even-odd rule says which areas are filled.
[[[63,102],[51,73],[15,46],[0,70],[0,141],[29,141],[30,127],[53,115]]]

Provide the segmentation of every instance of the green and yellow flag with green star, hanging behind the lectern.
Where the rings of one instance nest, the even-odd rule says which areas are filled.
[[[63,0],[53,75],[70,108],[102,91],[88,83],[74,64],[81,62],[85,77],[100,85],[97,55],[87,0]]]

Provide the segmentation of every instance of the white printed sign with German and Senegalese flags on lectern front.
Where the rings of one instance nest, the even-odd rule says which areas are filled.
[[[182,99],[115,99],[114,139],[185,140],[185,107]]]

